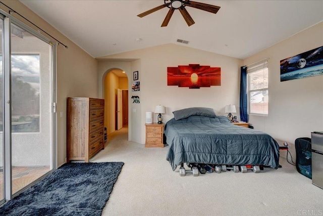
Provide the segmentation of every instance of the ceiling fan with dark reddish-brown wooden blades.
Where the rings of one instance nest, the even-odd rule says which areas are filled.
[[[187,10],[185,9],[185,7],[192,7],[192,8],[196,8],[196,9],[200,9],[203,11],[207,11],[213,14],[216,14],[220,7],[219,6],[214,6],[214,5],[208,5],[208,4],[204,4],[204,3],[199,3],[199,2],[193,2],[190,0],[164,0],[164,5],[160,5],[158,7],[155,7],[153,9],[150,9],[146,12],[143,12],[139,15],[137,15],[138,17],[144,17],[147,16],[148,14],[151,14],[155,11],[158,11],[160,9],[166,8],[168,7],[170,10],[168,11],[165,20],[163,22],[163,24],[161,24],[161,27],[165,27],[168,25],[169,21],[171,20],[171,17],[174,13],[175,10],[179,10],[184,18],[184,20],[186,21],[188,26],[193,25],[195,22],[192,19],[192,17],[189,15],[189,13],[187,12]]]

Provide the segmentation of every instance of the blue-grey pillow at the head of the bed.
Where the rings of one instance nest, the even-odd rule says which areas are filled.
[[[183,118],[190,117],[192,115],[200,115],[215,118],[217,117],[216,113],[211,108],[205,107],[192,107],[181,110],[176,110],[173,112],[175,120],[180,120]]]

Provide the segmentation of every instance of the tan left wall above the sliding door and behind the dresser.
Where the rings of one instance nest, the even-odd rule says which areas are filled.
[[[66,158],[66,98],[98,97],[97,61],[19,1],[2,2],[69,47],[60,45],[57,49],[57,111],[63,112],[63,118],[57,119],[57,164],[60,166]],[[8,12],[3,5],[1,9]],[[12,15],[35,28],[15,13]]]

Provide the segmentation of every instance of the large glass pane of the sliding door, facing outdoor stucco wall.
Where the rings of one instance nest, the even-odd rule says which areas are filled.
[[[11,24],[12,194],[51,170],[51,51]]]

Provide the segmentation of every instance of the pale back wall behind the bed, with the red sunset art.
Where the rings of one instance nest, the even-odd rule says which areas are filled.
[[[132,131],[132,141],[145,142],[145,112],[154,111],[155,106],[159,104],[166,106],[166,114],[163,115],[165,123],[174,117],[172,111],[187,107],[213,108],[218,115],[227,115],[224,113],[224,107],[229,104],[235,104],[239,110],[240,66],[242,66],[240,59],[174,44],[105,56],[100,59],[104,58],[109,61],[139,59],[131,62],[130,71],[124,69],[128,77],[131,77],[129,89],[133,82],[132,72],[139,71],[140,92],[129,92],[130,98],[132,95],[140,97],[140,104],[132,104],[132,101],[129,103],[129,118],[132,121],[129,130]],[[122,64],[126,63],[99,62],[99,74],[110,68],[123,69]],[[168,86],[167,67],[188,64],[221,67],[221,86],[200,89]],[[133,112],[134,109],[136,112]],[[239,113],[235,115],[239,118]],[[154,114],[154,121],[156,116],[157,114]]]

